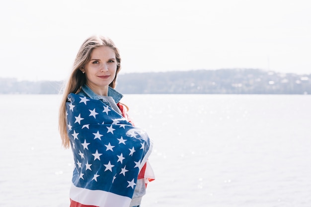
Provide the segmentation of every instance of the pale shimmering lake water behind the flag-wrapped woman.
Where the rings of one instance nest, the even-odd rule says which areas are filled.
[[[59,95],[0,95],[0,207],[68,207]],[[143,207],[310,207],[311,96],[125,95],[155,147]]]

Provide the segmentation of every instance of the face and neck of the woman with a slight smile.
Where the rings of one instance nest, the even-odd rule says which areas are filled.
[[[108,86],[116,76],[117,61],[113,49],[108,46],[94,48],[90,60],[81,69],[85,72],[86,85],[99,95],[107,95]]]

